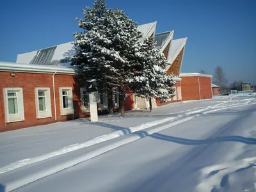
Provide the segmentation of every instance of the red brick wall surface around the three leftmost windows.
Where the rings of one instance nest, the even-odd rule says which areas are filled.
[[[81,113],[80,86],[75,83],[73,76],[56,74],[55,95],[56,95],[56,115],[57,121],[71,120],[74,118],[88,116],[88,113]],[[0,132],[31,125],[49,124],[55,121],[54,97],[52,86],[52,74],[33,74],[15,72],[15,77],[10,76],[10,72],[0,72]],[[6,123],[4,115],[3,88],[19,87],[23,89],[23,104],[25,120],[21,122]],[[51,92],[52,116],[49,118],[36,118],[35,108],[35,88],[49,87]],[[60,115],[60,95],[59,87],[72,87],[74,100],[74,115]]]

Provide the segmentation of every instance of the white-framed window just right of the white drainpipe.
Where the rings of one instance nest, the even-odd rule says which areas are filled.
[[[61,115],[74,114],[73,93],[71,87],[60,87]]]

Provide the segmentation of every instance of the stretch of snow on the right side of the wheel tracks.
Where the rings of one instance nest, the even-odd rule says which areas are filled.
[[[255,191],[255,105],[236,110],[198,116],[15,191]]]

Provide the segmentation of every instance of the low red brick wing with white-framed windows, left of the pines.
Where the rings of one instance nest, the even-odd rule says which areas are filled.
[[[90,116],[74,76],[74,68],[0,62],[0,132]],[[108,110],[106,102],[100,95],[99,111]]]

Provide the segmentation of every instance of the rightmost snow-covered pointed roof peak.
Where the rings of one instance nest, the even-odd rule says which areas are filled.
[[[170,68],[175,58],[177,58],[180,51],[183,49],[183,47],[185,47],[186,42],[187,42],[187,38],[179,38],[179,39],[172,40],[169,48],[169,52],[168,52],[168,57],[167,57],[168,63],[170,63],[170,65],[166,66],[166,70]],[[181,66],[180,66],[180,69],[181,69]]]

